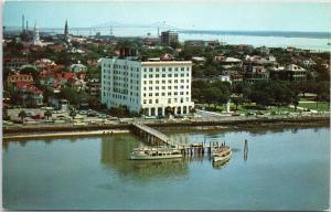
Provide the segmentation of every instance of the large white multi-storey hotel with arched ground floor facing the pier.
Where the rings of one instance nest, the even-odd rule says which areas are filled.
[[[189,114],[191,100],[191,61],[102,60],[102,103],[127,106],[148,116],[166,115],[170,106],[175,115]]]

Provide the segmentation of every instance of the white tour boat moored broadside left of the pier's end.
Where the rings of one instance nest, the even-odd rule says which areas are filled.
[[[137,148],[131,152],[131,160],[160,160],[182,158],[182,153],[178,149],[172,148]]]

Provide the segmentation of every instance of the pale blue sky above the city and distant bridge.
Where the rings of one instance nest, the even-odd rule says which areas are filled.
[[[22,14],[39,28],[93,26],[106,22],[180,29],[331,31],[331,3],[307,1],[6,1],[3,25],[21,26]]]

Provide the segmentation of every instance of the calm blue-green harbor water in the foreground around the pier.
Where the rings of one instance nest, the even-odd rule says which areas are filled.
[[[181,144],[225,141],[233,157],[129,160],[131,134],[2,145],[3,208],[13,210],[308,210],[329,208],[328,127],[163,130]],[[244,144],[248,151],[244,158]]]

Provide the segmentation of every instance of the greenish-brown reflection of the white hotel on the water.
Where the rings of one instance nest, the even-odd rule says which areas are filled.
[[[188,161],[182,158],[151,161],[130,160],[130,152],[137,146],[139,142],[130,135],[103,137],[102,163],[116,169],[122,176],[134,177],[140,181],[188,174]]]

